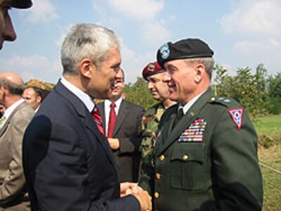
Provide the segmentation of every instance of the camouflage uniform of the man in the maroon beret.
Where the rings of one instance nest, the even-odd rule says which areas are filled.
[[[139,151],[142,153],[142,167],[141,167],[141,177],[139,179],[139,185],[146,190],[149,190],[151,186],[149,183],[149,174],[153,174],[151,168],[152,161],[152,151],[154,147],[154,138],[157,134],[158,124],[160,122],[161,116],[165,112],[163,103],[157,103],[155,106],[146,110],[144,117],[142,118],[142,143],[139,147]]]

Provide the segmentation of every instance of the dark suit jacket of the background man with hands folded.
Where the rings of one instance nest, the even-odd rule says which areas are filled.
[[[104,102],[99,103],[97,107],[101,113],[103,123],[106,122]],[[120,148],[113,151],[119,167],[120,181],[137,181],[143,114],[144,108],[135,103],[123,100],[120,104],[113,131],[113,138],[118,138],[120,141]]]

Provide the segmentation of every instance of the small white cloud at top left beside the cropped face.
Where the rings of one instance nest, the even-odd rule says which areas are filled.
[[[58,17],[56,7],[51,4],[50,0],[33,0],[33,6],[28,17],[31,23],[48,23]]]

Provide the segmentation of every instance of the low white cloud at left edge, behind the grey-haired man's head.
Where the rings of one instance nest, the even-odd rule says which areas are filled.
[[[30,79],[42,79],[45,82],[55,83],[62,73],[59,59],[50,61],[39,55],[0,58],[0,69],[17,72],[25,82]]]

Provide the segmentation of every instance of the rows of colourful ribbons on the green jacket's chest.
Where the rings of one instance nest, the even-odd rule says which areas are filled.
[[[197,119],[189,125],[185,131],[180,134],[179,142],[202,142],[206,124],[203,119]]]

